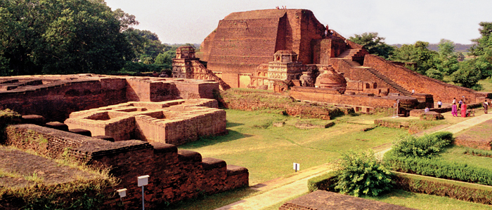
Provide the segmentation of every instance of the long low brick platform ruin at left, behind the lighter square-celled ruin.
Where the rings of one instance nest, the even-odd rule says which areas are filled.
[[[0,109],[11,109],[24,116],[43,116],[47,122],[63,122],[74,111],[129,101],[162,102],[180,97],[212,99],[212,91],[219,90],[219,84],[213,81],[95,74],[13,76],[0,77],[0,80],[20,83],[33,78],[42,83],[8,90],[6,85],[11,83],[0,83]]]

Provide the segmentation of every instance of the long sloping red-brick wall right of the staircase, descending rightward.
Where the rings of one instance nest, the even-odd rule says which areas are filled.
[[[418,93],[432,94],[434,101],[452,102],[453,98],[465,96],[468,102],[475,102],[475,91],[465,87],[458,87],[441,82],[420,73],[406,69],[403,66],[387,62],[375,55],[365,55],[364,66],[370,66],[407,90],[415,90]]]

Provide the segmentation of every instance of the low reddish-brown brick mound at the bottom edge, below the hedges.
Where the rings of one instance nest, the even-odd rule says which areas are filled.
[[[373,200],[365,200],[360,197],[342,195],[323,190],[316,190],[313,193],[297,197],[294,200],[285,202],[279,210],[352,210],[352,209],[410,209],[394,204],[387,204]]]

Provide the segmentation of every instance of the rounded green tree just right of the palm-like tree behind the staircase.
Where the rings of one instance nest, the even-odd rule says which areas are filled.
[[[412,67],[409,69],[427,75],[427,70],[436,69],[434,57],[438,55],[437,52],[427,49],[427,46],[429,43],[424,41],[417,41],[413,45],[401,45],[400,48],[394,50],[390,59],[397,62],[415,63],[415,69]]]

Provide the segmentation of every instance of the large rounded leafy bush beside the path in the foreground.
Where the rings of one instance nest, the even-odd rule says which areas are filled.
[[[391,172],[377,160],[373,151],[344,153],[337,170],[335,190],[354,195],[377,196],[391,189]]]

